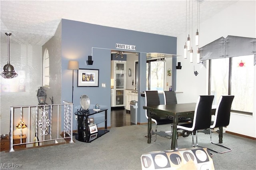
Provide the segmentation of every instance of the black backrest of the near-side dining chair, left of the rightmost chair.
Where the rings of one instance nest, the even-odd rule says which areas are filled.
[[[213,98],[214,95],[198,96],[193,119],[193,131],[210,128]]]

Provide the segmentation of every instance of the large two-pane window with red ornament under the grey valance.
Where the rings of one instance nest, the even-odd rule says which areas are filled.
[[[252,115],[254,55],[210,60],[210,94],[217,105],[220,95],[234,95],[231,110]]]

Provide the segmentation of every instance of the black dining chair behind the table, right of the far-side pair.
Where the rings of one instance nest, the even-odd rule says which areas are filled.
[[[177,104],[177,98],[176,98],[176,93],[175,91],[164,91],[164,104],[169,105],[169,104]],[[179,117],[178,122],[179,123],[190,123],[192,121],[191,118],[186,118],[186,117]]]

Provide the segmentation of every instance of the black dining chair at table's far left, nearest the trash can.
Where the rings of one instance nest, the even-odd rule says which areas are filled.
[[[146,106],[155,106],[160,105],[160,99],[158,95],[158,91],[145,91],[145,103]],[[148,119],[147,110],[146,110],[146,118]],[[151,116],[152,121],[156,124],[156,131],[154,132],[156,134],[157,132],[157,125],[164,125],[164,124],[171,124],[173,123],[172,120],[166,118],[166,117],[159,117],[158,115],[152,115]],[[167,131],[171,132],[171,131]],[[156,141],[156,137],[154,142]]]

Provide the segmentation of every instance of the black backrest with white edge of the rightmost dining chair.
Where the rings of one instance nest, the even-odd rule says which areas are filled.
[[[215,112],[214,122],[210,128],[226,127],[230,121],[230,111],[234,96],[220,96]]]

